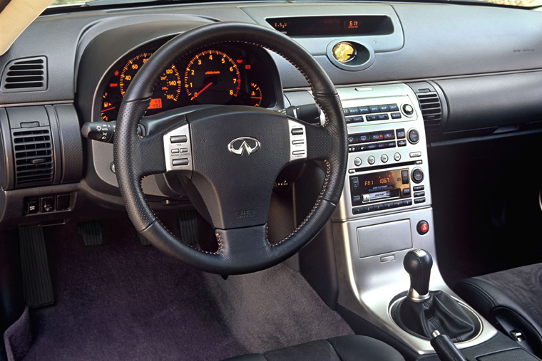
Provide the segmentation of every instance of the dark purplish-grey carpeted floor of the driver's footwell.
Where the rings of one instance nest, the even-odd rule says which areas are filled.
[[[56,304],[31,310],[25,360],[221,360],[352,334],[283,265],[224,281],[141,246],[128,221],[101,246],[45,232]]]

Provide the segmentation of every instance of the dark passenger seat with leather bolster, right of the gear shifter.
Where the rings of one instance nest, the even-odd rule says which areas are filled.
[[[498,330],[542,357],[542,263],[466,278],[454,291]]]

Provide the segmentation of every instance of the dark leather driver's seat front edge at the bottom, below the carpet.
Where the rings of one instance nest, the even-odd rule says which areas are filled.
[[[225,361],[404,361],[402,355],[382,341],[348,335],[250,354]]]

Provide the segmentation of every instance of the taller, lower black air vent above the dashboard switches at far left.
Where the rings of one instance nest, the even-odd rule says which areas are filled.
[[[53,146],[51,131],[15,130],[13,133],[15,155],[15,187],[53,184]]]

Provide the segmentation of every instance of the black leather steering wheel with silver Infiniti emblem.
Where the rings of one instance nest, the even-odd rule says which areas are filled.
[[[179,113],[153,135],[140,137],[138,123],[160,75],[179,58],[218,43],[261,46],[290,61],[310,84],[325,124],[315,126],[272,110],[230,105]],[[344,186],[347,127],[332,81],[299,44],[264,26],[213,23],[171,39],[138,71],[119,110],[114,154],[128,216],[151,244],[203,271],[250,273],[292,256],[331,217]],[[299,226],[271,244],[267,212],[275,179],[291,162],[307,159],[325,164],[322,191]],[[191,201],[215,228],[217,251],[183,244],[150,209],[141,181],[164,172],[183,174]]]

